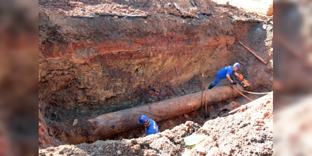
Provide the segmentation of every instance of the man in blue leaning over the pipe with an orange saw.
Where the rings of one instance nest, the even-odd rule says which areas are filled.
[[[236,84],[236,82],[234,82],[231,77],[233,76],[233,73],[239,77],[239,75],[236,73],[236,70],[240,69],[240,64],[239,63],[235,63],[234,66],[227,66],[224,67],[222,69],[220,69],[217,74],[216,74],[216,78],[215,78],[215,82],[210,84],[210,86],[208,87],[208,89],[211,89],[212,87],[214,87],[215,85],[217,85],[221,79],[225,79],[227,78],[228,80],[230,80],[231,84]]]

